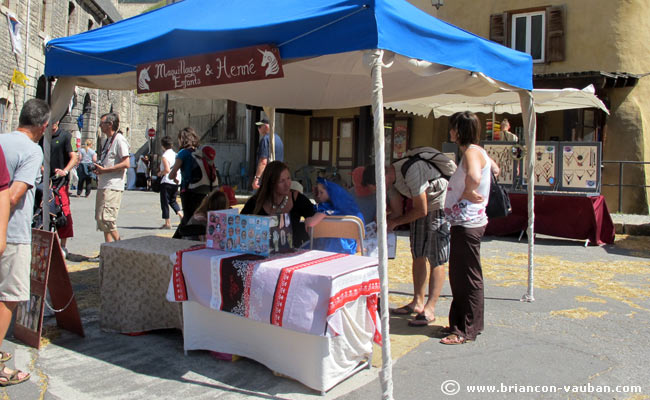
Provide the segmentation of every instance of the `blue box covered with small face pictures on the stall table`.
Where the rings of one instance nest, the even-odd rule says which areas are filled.
[[[268,217],[241,215],[237,209],[209,211],[206,246],[265,257],[285,252],[293,248],[289,221],[288,214]]]

